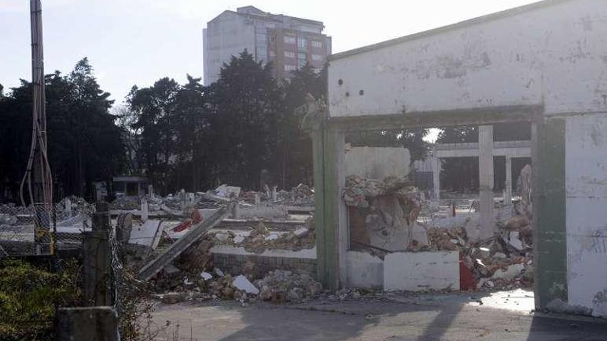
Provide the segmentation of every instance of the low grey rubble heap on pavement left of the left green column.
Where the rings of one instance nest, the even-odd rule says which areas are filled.
[[[315,298],[322,291],[322,285],[307,273],[292,271],[270,271],[263,279],[257,280],[260,300],[274,302],[299,301]]]

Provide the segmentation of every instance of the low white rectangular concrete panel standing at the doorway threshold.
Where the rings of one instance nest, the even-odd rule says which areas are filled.
[[[396,252],[384,258],[384,289],[459,290],[459,252]]]

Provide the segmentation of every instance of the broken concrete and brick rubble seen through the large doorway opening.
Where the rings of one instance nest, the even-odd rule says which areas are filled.
[[[454,206],[453,217],[440,217],[437,208],[406,179],[347,176],[342,195],[350,208],[352,244],[373,256],[384,259],[395,251],[458,251],[461,289],[513,289],[533,283],[528,203],[515,207],[496,204],[497,233],[475,240],[468,236],[470,225],[475,224],[470,214],[460,212],[456,218]]]

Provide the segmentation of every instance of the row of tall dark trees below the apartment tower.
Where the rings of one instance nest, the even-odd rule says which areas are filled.
[[[56,199],[92,196],[91,183],[145,175],[161,193],[220,183],[257,189],[312,185],[310,138],[295,109],[326,93],[326,69],[306,65],[277,82],[271,63],[246,50],[208,86],[190,75],[132,87],[126,105],[101,90],[85,58],[69,74],[45,77],[48,149]],[[28,157],[32,84],[0,96],[0,202],[17,199]]]

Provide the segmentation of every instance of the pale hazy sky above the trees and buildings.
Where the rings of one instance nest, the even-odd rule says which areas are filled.
[[[202,28],[223,10],[253,5],[324,21],[333,52],[448,25],[533,0],[43,0],[46,73],[69,72],[88,56],[117,103],[132,85],[202,76]],[[0,83],[30,79],[29,1],[0,0]]]

